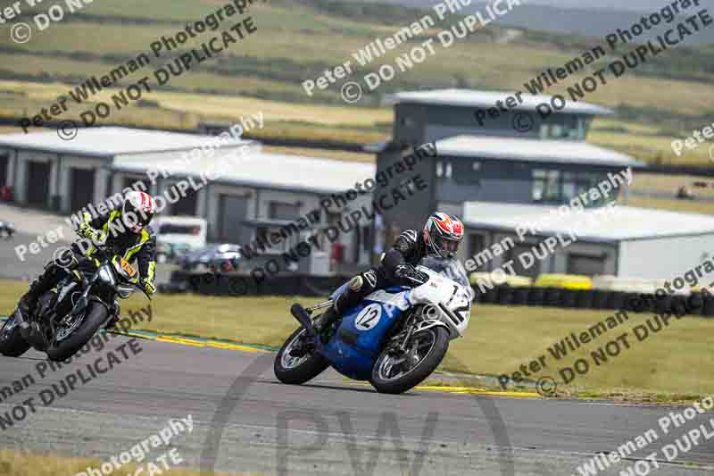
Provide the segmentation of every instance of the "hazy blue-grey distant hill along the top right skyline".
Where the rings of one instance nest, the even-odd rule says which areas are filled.
[[[370,4],[400,4],[413,8],[431,9],[435,4],[433,0],[357,0],[349,3]],[[568,4],[569,7],[551,6],[547,4]],[[627,27],[642,18],[643,12],[654,12],[661,8],[652,6],[652,0],[627,0],[627,8],[619,7],[619,1],[598,0],[598,7],[593,7],[592,0],[521,0],[521,6],[515,8],[500,20],[500,25],[511,25],[525,29],[540,29],[554,33],[577,33],[587,37],[602,37],[610,32]],[[464,7],[461,13],[468,14],[483,11],[487,2],[472,2]],[[589,5],[590,4],[590,5]],[[657,2],[657,4],[660,4]],[[665,2],[661,3],[662,5]],[[702,4],[703,5],[703,4]],[[637,10],[635,12],[634,10]],[[661,28],[660,29],[664,30]],[[660,31],[661,32],[661,31]],[[642,38],[645,38],[644,36]],[[714,44],[714,27],[709,27],[687,40],[687,44],[710,45]]]

